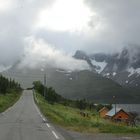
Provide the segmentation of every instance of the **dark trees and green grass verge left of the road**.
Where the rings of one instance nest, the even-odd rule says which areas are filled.
[[[12,79],[0,76],[0,113],[12,106],[20,97],[21,87]]]

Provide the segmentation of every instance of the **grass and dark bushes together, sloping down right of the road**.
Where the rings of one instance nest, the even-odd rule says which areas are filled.
[[[88,103],[85,99],[77,101],[65,100],[55,93],[53,88],[51,88],[53,92],[46,88],[46,96],[48,97],[46,98],[46,96],[43,96],[44,87],[39,82],[34,82],[34,88],[35,101],[41,112],[57,125],[79,132],[140,133],[140,126],[126,126],[125,124],[116,124],[110,120],[100,118],[98,110],[102,105],[91,106],[93,103]],[[54,100],[54,97],[57,97],[57,100]],[[108,105],[108,107],[111,106]]]

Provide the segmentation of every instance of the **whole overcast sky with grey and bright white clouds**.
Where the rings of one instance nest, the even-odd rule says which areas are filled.
[[[64,60],[74,63],[76,50],[119,51],[128,44],[140,45],[139,37],[139,0],[0,0],[1,65],[23,55],[23,65],[53,63],[55,58],[61,58],[57,66],[65,65]],[[86,67],[76,61],[73,68],[77,63]]]

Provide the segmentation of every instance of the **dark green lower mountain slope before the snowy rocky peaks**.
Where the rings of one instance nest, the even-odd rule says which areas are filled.
[[[57,68],[46,68],[47,86],[52,86],[56,92],[70,99],[88,99],[102,103],[138,103],[137,91],[124,88],[111,79],[89,70],[67,71]],[[44,72],[40,68],[18,68],[18,64],[3,72],[3,75],[19,81],[24,88],[32,87],[32,82],[43,82]],[[116,97],[115,101],[113,96]]]

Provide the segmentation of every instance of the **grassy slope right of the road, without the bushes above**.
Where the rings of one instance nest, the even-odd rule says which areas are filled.
[[[115,124],[109,120],[99,118],[95,111],[86,110],[89,113],[89,117],[83,117],[80,115],[79,109],[61,104],[51,105],[39,94],[36,94],[35,101],[43,115],[50,121],[71,130],[88,133],[140,134],[140,126],[131,127]]]

